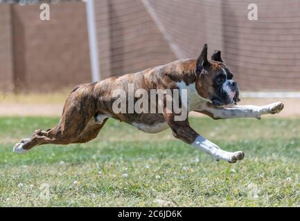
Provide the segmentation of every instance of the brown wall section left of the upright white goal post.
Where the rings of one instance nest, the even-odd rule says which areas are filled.
[[[0,5],[0,88],[54,91],[91,81],[85,3]],[[13,59],[12,59],[13,57]]]

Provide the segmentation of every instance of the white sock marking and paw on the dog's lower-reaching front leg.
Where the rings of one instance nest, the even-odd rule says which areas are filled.
[[[233,153],[223,151],[219,146],[213,144],[209,140],[206,140],[200,135],[195,139],[192,146],[200,148],[200,150],[208,153],[216,160],[225,160],[227,162],[235,163],[237,160],[242,160],[244,158],[244,153],[242,153],[242,151],[236,151]]]

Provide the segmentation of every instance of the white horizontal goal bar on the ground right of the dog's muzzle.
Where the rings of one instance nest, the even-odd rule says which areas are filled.
[[[272,92],[251,92],[245,91],[240,93],[240,97],[245,98],[300,98],[300,92],[280,92],[280,91],[272,91]]]

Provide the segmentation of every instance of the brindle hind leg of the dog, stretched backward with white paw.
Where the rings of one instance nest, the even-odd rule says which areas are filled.
[[[17,143],[14,152],[25,153],[30,148],[42,144],[71,144],[78,140],[83,142],[82,132],[85,131],[89,121],[94,118],[95,110],[95,102],[87,99],[87,94],[82,91],[71,93],[64,105],[60,123],[48,131],[35,131],[31,138]],[[94,133],[98,132],[100,128],[101,126],[93,127]]]

